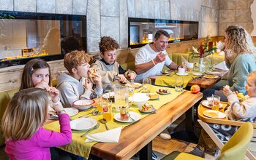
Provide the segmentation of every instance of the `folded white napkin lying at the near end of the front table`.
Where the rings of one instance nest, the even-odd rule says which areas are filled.
[[[102,143],[118,143],[121,134],[121,127],[110,129],[105,132],[87,135],[86,143],[97,141]]]

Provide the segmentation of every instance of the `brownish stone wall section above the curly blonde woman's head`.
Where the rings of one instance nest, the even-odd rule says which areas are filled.
[[[225,34],[229,25],[241,25],[252,33],[252,2],[253,0],[219,0],[219,36]]]

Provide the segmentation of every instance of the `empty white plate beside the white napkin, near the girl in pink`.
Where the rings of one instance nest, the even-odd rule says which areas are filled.
[[[70,121],[70,127],[73,130],[86,130],[91,129],[97,125],[97,121],[91,118],[75,119]]]

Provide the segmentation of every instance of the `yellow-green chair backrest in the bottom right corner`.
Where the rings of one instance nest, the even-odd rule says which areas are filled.
[[[236,133],[223,146],[218,159],[233,160],[244,159],[249,142],[252,139],[252,123],[246,122],[236,131]]]

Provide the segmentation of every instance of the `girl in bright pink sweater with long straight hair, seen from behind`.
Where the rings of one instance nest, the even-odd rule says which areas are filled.
[[[72,141],[69,116],[61,105],[53,106],[59,115],[60,132],[42,128],[50,101],[48,92],[40,88],[23,89],[12,97],[1,119],[9,159],[50,159],[50,147]]]

